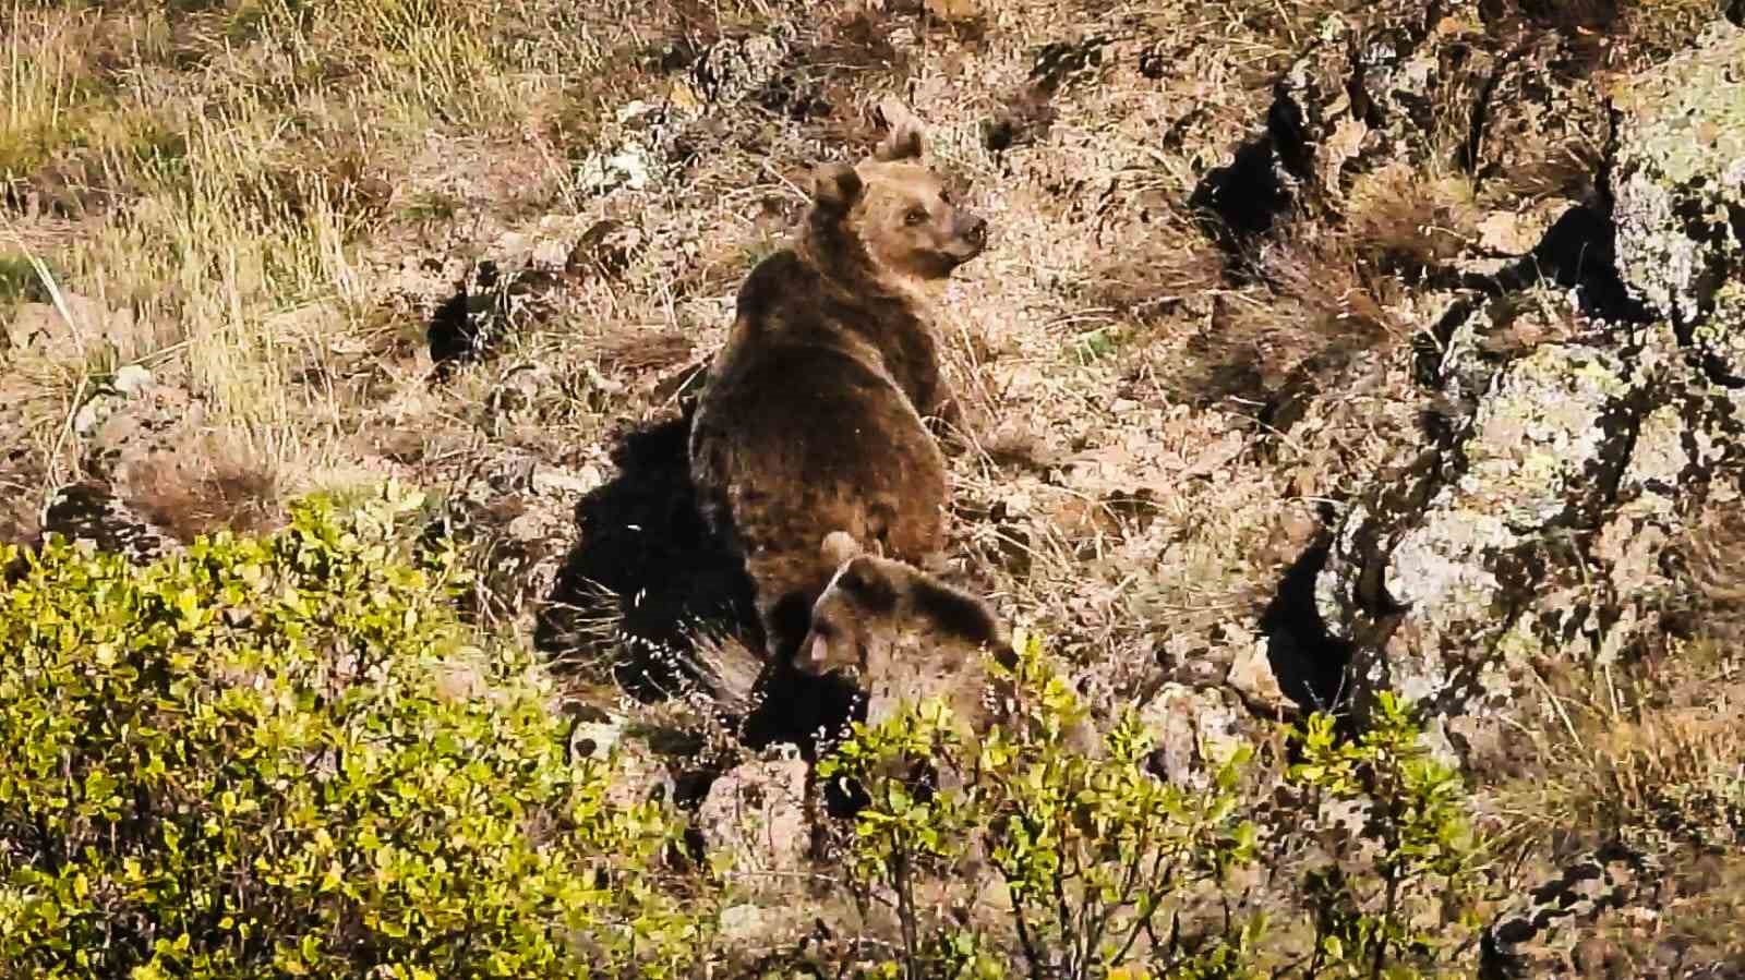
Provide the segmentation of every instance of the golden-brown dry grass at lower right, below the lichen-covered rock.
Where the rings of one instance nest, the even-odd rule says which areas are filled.
[[[1682,551],[1698,609],[1682,636],[1635,663],[1544,675],[1543,727],[1525,727],[1525,767],[1494,788],[1509,839],[1557,868],[1574,849],[1625,840],[1661,867],[1654,917],[1602,919],[1593,942],[1642,968],[1651,949],[1738,964],[1745,915],[1745,677],[1740,610],[1745,544],[1736,500],[1712,500]],[[1532,861],[1529,867],[1537,867]],[[1733,957],[1733,959],[1726,959]]]

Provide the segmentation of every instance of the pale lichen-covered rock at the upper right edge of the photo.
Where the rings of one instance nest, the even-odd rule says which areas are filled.
[[[1611,192],[1630,291],[1745,380],[1745,31],[1623,82]]]

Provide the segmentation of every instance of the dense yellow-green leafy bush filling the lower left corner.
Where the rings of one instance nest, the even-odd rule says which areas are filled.
[[[469,643],[454,555],[391,544],[415,506],[311,499],[145,567],[0,548],[0,975],[670,977],[705,949],[675,821],[609,806],[522,654]]]

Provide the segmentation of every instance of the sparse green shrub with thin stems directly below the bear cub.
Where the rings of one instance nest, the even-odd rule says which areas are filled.
[[[857,816],[850,874],[883,891],[902,924],[902,956],[886,977],[1106,977],[1145,959],[1178,977],[1232,977],[1225,966],[1258,933],[1230,924],[1190,949],[1157,942],[1199,888],[1216,889],[1246,865],[1255,828],[1239,813],[1237,752],[1208,792],[1167,785],[1145,769],[1152,750],[1127,710],[1094,757],[1063,738],[1084,717],[1071,689],[1047,668],[1037,638],[1016,643],[1009,717],[974,743],[960,738],[941,701],[906,704],[853,736],[820,764],[846,776],[871,802]],[[941,792],[920,799],[916,766],[946,771]],[[953,879],[986,860],[1009,896],[1003,922],[923,922],[918,879]],[[958,882],[974,898],[974,882]],[[1178,931],[1178,929],[1174,929]]]

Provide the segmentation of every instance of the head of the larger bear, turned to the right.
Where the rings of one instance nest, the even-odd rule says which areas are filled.
[[[951,201],[939,174],[921,164],[920,124],[904,119],[872,157],[818,169],[808,239],[825,263],[850,258],[832,249],[859,246],[878,277],[934,282],[981,255],[988,221]]]

